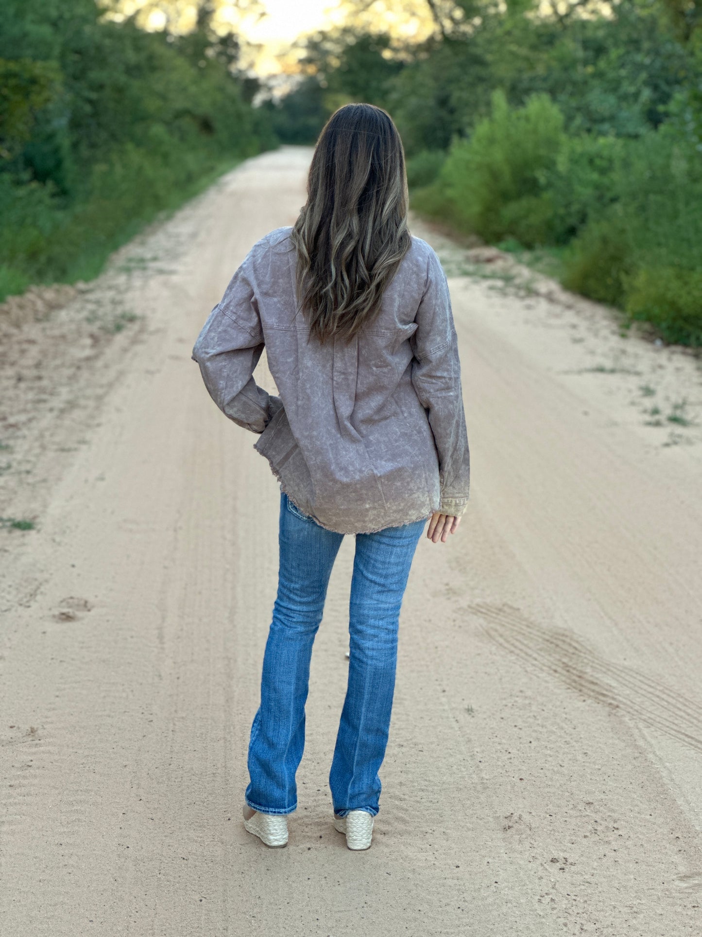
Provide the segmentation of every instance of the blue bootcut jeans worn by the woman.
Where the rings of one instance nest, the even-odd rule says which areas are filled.
[[[349,603],[348,687],[329,773],[334,811],[378,812],[388,744],[404,587],[425,521],[356,535]],[[298,806],[314,635],[344,534],[320,527],[281,496],[278,595],[251,727],[246,803],[262,813]]]

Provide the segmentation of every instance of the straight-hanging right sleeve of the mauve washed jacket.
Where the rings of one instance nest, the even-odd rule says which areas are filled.
[[[440,511],[460,516],[468,503],[470,454],[463,412],[458,336],[446,275],[431,251],[424,293],[412,336],[412,383],[439,456]]]

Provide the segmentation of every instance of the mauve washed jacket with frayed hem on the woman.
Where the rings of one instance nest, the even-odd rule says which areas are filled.
[[[283,491],[340,533],[460,515],[469,454],[461,365],[446,275],[425,241],[412,246],[371,326],[351,342],[309,338],[297,311],[290,228],[251,249],[193,349],[212,399],[260,434]],[[256,385],[266,348],[280,396]]]

